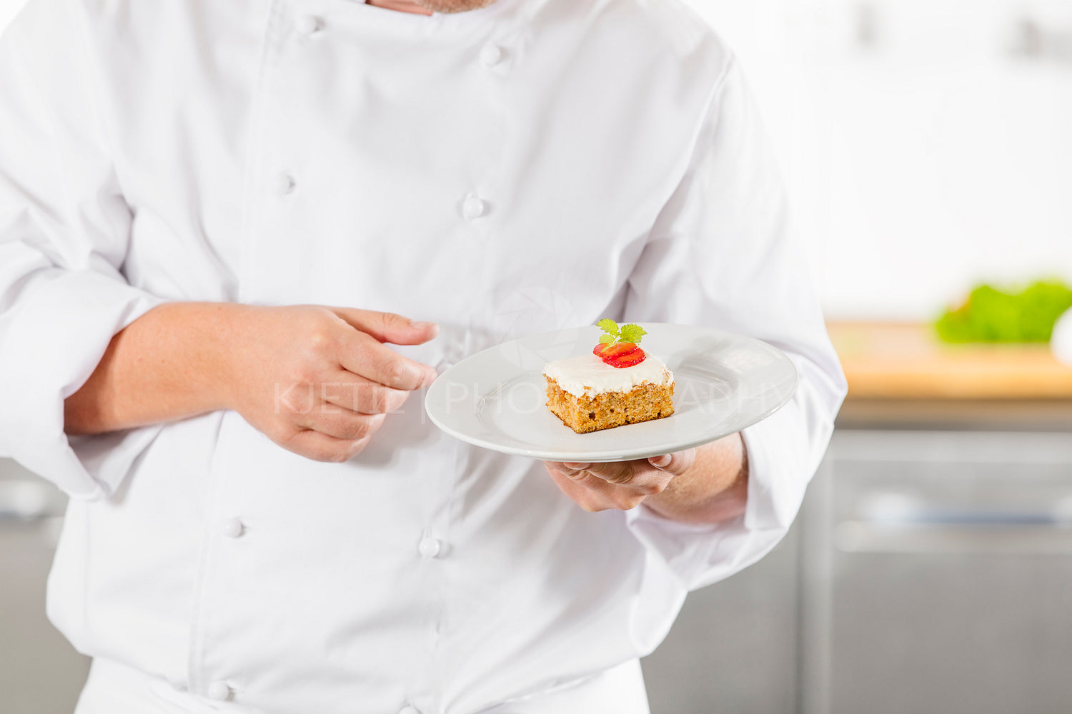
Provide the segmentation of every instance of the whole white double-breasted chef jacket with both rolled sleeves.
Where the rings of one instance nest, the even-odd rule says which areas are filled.
[[[602,317],[704,324],[800,385],[744,430],[720,526],[586,513],[419,395],[345,464],[229,411],[65,437],[166,301],[434,320],[397,349],[441,369]],[[845,390],[741,70],[676,0],[31,0],[0,42],[0,454],[72,497],[53,622],[280,714],[491,711],[651,652],[786,533]]]

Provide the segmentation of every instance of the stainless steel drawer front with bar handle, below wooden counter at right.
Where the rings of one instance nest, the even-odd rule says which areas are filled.
[[[1072,711],[1072,437],[849,431],[830,462],[815,711]]]

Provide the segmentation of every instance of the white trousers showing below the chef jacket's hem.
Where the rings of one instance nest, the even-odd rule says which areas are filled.
[[[256,714],[234,702],[215,702],[165,680],[96,657],[74,714]],[[473,714],[651,714],[640,660],[630,659],[592,678],[546,694]]]

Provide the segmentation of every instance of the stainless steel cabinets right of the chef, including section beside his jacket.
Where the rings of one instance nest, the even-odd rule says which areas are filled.
[[[786,542],[693,593],[653,714],[1072,712],[1072,436],[842,430]]]

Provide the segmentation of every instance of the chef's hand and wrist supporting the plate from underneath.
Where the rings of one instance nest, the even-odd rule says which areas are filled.
[[[645,507],[673,520],[713,523],[744,513],[748,461],[740,434],[632,461],[545,461],[559,489],[589,512]]]

